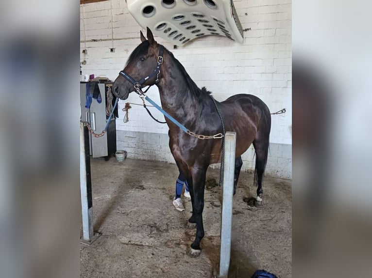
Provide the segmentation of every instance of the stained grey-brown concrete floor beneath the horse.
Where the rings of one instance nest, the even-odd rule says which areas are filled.
[[[208,278],[218,274],[220,260],[221,188],[205,190],[205,237],[202,253],[190,258],[186,248],[195,230],[187,228],[186,210],[172,206],[177,167],[173,164],[112,157],[91,159],[94,230],[102,233],[91,246],[81,244],[81,277]],[[207,178],[219,171],[208,170]],[[229,277],[250,278],[265,269],[291,277],[291,181],[265,178],[263,206],[243,201],[255,197],[253,175],[241,173],[234,197],[233,239]]]

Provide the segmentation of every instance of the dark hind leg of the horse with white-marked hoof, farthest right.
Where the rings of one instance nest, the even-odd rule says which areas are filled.
[[[269,136],[258,136],[253,141],[254,150],[256,154],[256,162],[254,167],[254,185],[257,185],[257,198],[256,201],[262,201],[262,182],[264,178],[266,162],[268,161],[269,154]]]

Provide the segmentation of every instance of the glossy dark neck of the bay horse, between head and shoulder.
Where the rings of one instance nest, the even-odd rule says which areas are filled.
[[[187,117],[195,119],[202,113],[201,98],[192,91],[192,84],[187,82],[189,77],[178,61],[164,51],[164,62],[161,67],[161,78],[158,83],[162,107],[176,119],[187,121]],[[190,78],[190,77],[189,77]],[[191,78],[190,78],[191,80]]]

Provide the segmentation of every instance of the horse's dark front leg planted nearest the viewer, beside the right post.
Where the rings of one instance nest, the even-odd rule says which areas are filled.
[[[193,168],[191,170],[192,176],[192,193],[191,201],[193,202],[192,216],[189,221],[196,222],[195,240],[191,244],[189,256],[198,257],[201,253],[200,243],[204,237],[203,228],[203,209],[204,209],[204,186],[205,186],[206,169]],[[191,222],[190,221],[190,222]],[[192,222],[191,222],[192,223]]]

